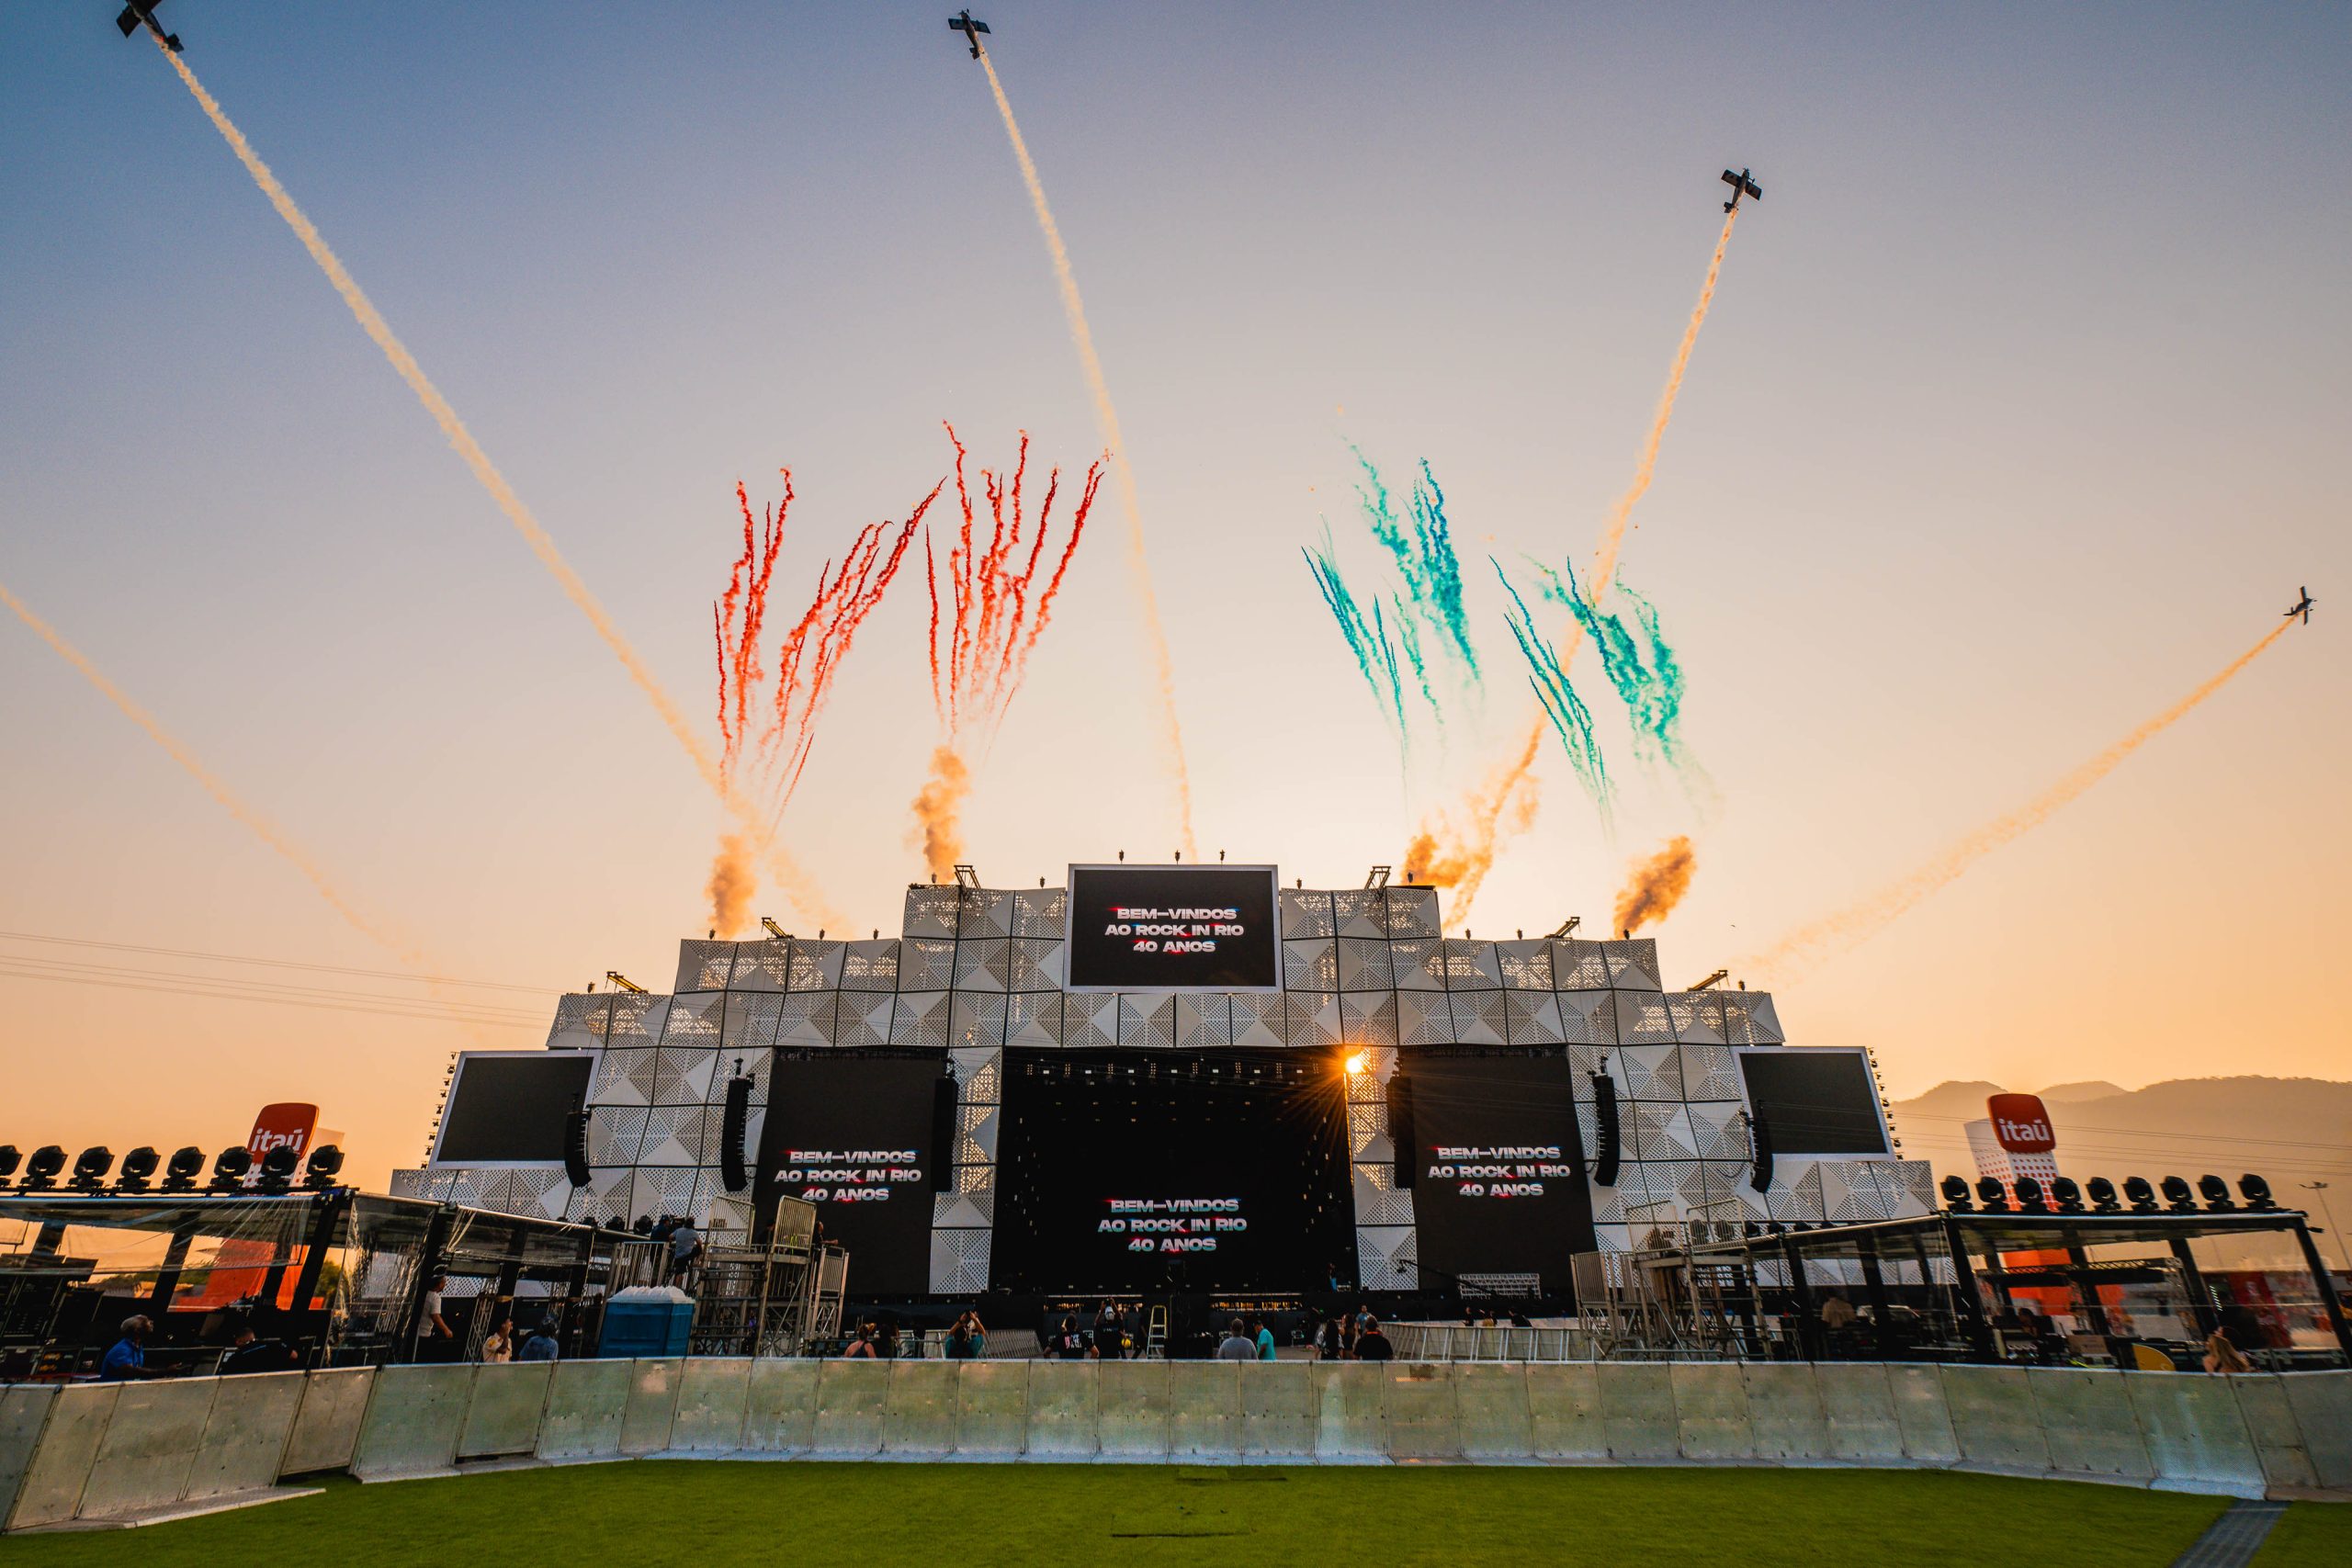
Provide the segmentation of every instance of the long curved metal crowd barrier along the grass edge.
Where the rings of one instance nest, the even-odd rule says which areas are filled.
[[[1957,1467],[2352,1493],[2352,1371],[644,1359],[0,1387],[0,1521],[621,1458]]]

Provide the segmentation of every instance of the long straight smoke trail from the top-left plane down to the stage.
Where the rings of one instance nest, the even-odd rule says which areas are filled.
[[[261,188],[261,195],[268,197],[270,207],[278,209],[278,216],[285,219],[287,228],[294,230],[294,237],[301,240],[306,252],[310,252],[310,261],[315,261],[318,268],[327,275],[327,282],[334,284],[334,292],[343,296],[343,303],[350,308],[353,320],[360,322],[360,329],[369,339],[374,339],[376,348],[383,350],[383,357],[390,362],[390,367],[400,374],[402,381],[409,383],[409,390],[416,393],[416,402],[426,407],[426,414],[433,416],[433,423],[440,425],[442,435],[449,440],[456,454],[466,458],[466,468],[473,470],[473,477],[482,484],[482,489],[489,491],[489,498],[499,503],[499,510],[506,512],[506,520],[510,524],[515,524],[515,531],[522,534],[522,541],[532,548],[532,555],[539,557],[539,564],[548,569],[548,576],[553,576],[557,585],[562,585],[572,604],[583,616],[588,616],[588,623],[595,628],[597,637],[604,639],[604,646],[609,646],[614,658],[621,661],[621,668],[628,670],[628,677],[637,684],[637,691],[644,693],[644,701],[654,705],[654,712],[661,715],[661,722],[668,726],[677,745],[684,748],[687,757],[694,762],[694,771],[703,776],[703,783],[710,785],[710,792],[720,797],[720,802],[729,809],[729,813],[736,816],[736,820],[741,820],[748,830],[760,835],[760,846],[769,858],[769,867],[776,872],[779,882],[783,884],[786,893],[790,893],[793,903],[816,919],[830,917],[840,922],[842,917],[833,914],[816,882],[811,882],[809,875],[800,870],[797,863],[793,863],[793,858],[783,851],[781,844],[774,844],[762,832],[753,806],[734,797],[734,792],[727,788],[724,776],[720,773],[717,757],[713,757],[710,748],[703,745],[703,738],[694,733],[694,726],[687,722],[684,710],[675,701],[670,701],[670,693],[654,677],[652,668],[647,668],[647,663],[637,656],[637,649],[628,644],[628,639],[621,635],[621,628],[614,625],[612,616],[604,611],[604,604],[597,602],[593,592],[588,592],[588,583],[583,583],[581,576],[572,571],[572,564],[555,548],[555,538],[550,538],[548,531],[539,527],[539,520],[532,515],[532,510],[522,505],[522,496],[515,494],[515,489],[506,482],[506,475],[501,475],[499,468],[489,461],[489,454],[482,451],[482,444],[473,440],[473,433],[456,416],[456,409],[449,407],[449,400],[440,395],[440,388],[435,388],[433,381],[426,376],[423,367],[416,364],[416,355],[412,355],[407,346],[402,346],[400,339],[393,336],[393,329],[376,313],[376,306],[369,303],[367,294],[360,292],[360,284],[350,277],[348,270],[343,270],[341,259],[336,259],[336,254],[327,249],[327,242],[320,237],[318,226],[310,223],[308,216],[303,216],[301,207],[294,205],[294,197],[287,195],[287,188],[278,183],[275,174],[270,174],[270,167],[261,162],[261,155],[254,153],[249,141],[245,141],[245,132],[230,125],[228,115],[221,113],[219,101],[214,101],[214,96],[205,92],[205,85],[195,80],[195,73],[188,71],[188,61],[165,49],[162,42],[158,42],[155,47],[179,73],[179,80],[188,85],[188,92],[195,94],[195,101],[202,106],[205,118],[212,120],[212,127],[216,132],[221,132],[221,139],[228,143],[228,150],[235,153],[238,162],[245,165],[245,172],[252,174],[254,183]]]

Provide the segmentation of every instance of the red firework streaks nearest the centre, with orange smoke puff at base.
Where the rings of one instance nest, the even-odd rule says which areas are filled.
[[[1087,534],[1087,515],[1103,484],[1103,463],[1096,458],[1087,465],[1087,482],[1070,510],[1054,576],[1040,588],[1037,569],[1054,531],[1061,470],[1047,473],[1044,501],[1037,505],[1033,524],[1023,501],[1028,482],[1028,430],[1023,430],[1009,477],[981,470],[981,494],[988,503],[983,534],[971,510],[964,442],[957,440],[955,425],[948,425],[948,440],[955,444],[957,524],[955,543],[948,548],[946,621],[938,614],[941,571],[931,555],[931,531],[922,534],[924,578],[931,588],[931,708],[938,712],[941,743],[931,752],[931,776],[915,797],[915,825],[934,877],[955,872],[955,860],[962,853],[957,818],[971,792],[969,752],[978,748],[985,755],[988,745],[995,743],[1004,710],[1028,677],[1030,651],[1054,618],[1054,599],[1061,595],[1061,581],[1070,571],[1070,557],[1077,555],[1077,541]],[[1021,536],[1030,527],[1035,531],[1028,536],[1023,555]]]

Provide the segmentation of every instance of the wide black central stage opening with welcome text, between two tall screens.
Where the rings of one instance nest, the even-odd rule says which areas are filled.
[[[1322,1291],[1355,1279],[1338,1058],[1007,1051],[1004,1291]]]

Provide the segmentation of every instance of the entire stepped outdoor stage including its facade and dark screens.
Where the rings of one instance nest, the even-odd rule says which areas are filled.
[[[1444,938],[1437,889],[1383,877],[913,886],[896,938],[689,940],[673,994],[461,1053],[393,1190],[739,1239],[804,1197],[854,1300],[1021,1326],[1110,1295],[1541,1309],[1661,1229],[1929,1211],[1863,1051],[1658,976],[1649,940]]]

